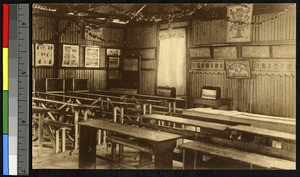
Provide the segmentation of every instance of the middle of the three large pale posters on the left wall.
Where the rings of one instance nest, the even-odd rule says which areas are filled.
[[[79,66],[79,46],[63,45],[63,67],[78,67]]]

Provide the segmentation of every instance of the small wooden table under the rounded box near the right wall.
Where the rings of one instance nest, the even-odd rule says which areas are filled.
[[[232,101],[230,99],[217,99],[217,100],[212,100],[212,99],[204,99],[204,98],[194,98],[193,99],[193,104],[194,105],[204,105],[208,107],[212,107],[215,109],[218,109],[219,107],[222,106],[227,106],[228,110],[231,109]]]

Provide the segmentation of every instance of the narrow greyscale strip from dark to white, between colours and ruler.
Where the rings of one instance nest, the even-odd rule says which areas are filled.
[[[8,151],[9,175],[18,174],[18,5],[9,5],[9,51],[8,51]]]

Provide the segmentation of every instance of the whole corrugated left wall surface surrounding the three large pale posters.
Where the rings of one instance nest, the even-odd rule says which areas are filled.
[[[34,67],[32,77],[39,83],[43,78],[68,78],[80,77],[89,79],[89,89],[106,88],[106,66],[105,49],[123,48],[124,32],[120,28],[104,28],[103,41],[90,41],[83,38],[82,24],[73,21],[59,20],[54,17],[33,15],[33,42],[52,43],[55,49],[55,59],[53,67]],[[56,29],[55,29],[56,28]],[[58,28],[58,29],[57,29]],[[64,30],[65,29],[65,30]],[[59,35],[60,34],[60,35]],[[61,67],[62,45],[79,45],[80,66],[76,68]],[[95,46],[100,48],[100,67],[84,67],[84,48]],[[37,84],[38,85],[38,84]]]

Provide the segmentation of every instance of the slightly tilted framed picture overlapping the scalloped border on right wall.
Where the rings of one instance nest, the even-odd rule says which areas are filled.
[[[228,79],[250,79],[249,60],[228,60],[225,61],[226,76]]]

